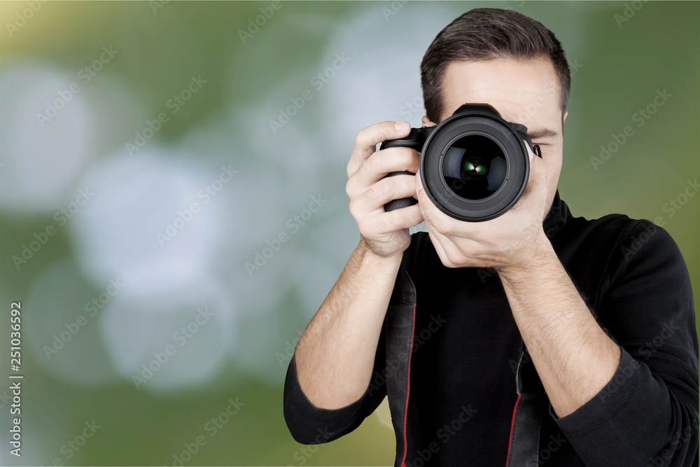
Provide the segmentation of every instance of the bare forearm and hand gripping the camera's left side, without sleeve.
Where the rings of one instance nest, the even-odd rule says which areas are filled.
[[[405,122],[385,122],[357,134],[346,192],[360,243],[295,350],[300,387],[316,407],[338,409],[356,402],[370,382],[381,324],[402,253],[410,244],[408,228],[423,220],[417,206],[384,212],[386,202],[416,194],[414,176],[384,177],[416,172],[418,153],[408,148],[376,151],[376,146],[405,137],[409,129]]]

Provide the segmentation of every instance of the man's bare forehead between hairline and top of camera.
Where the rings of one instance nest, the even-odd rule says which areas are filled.
[[[462,104],[484,103],[495,107],[505,120],[524,125],[561,121],[559,81],[546,58],[451,62],[445,69],[442,99],[440,120]]]

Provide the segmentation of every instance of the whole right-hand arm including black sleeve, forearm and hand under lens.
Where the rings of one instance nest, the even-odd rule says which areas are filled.
[[[622,246],[613,255],[595,309],[615,343],[542,234],[545,179],[535,158],[519,204],[481,225],[442,216],[419,187],[442,263],[498,271],[552,418],[587,465],[694,465],[698,347],[678,248],[658,228],[631,258]],[[650,230],[643,224],[623,241]]]

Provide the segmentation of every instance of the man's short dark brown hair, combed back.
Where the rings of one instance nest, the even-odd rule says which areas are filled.
[[[477,8],[464,13],[437,34],[421,62],[421,87],[426,114],[438,123],[444,103],[442,83],[450,62],[510,58],[549,58],[561,89],[561,110],[566,110],[571,75],[559,39],[542,23],[521,13],[499,8]]]

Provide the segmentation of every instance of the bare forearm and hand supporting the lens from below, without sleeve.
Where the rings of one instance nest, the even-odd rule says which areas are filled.
[[[532,157],[524,196],[503,216],[456,221],[417,188],[440,260],[448,267],[493,267],[523,340],[559,416],[576,410],[610,381],[620,361],[615,342],[598,325],[545,235],[545,162]],[[553,194],[552,194],[553,195]]]

